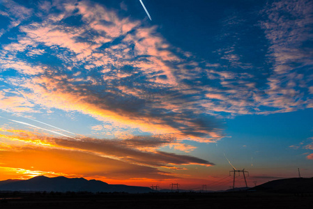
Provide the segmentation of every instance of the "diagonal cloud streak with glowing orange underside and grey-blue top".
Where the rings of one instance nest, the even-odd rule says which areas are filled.
[[[155,114],[153,109],[157,107],[141,103],[144,100],[140,97],[129,100],[130,95],[125,94],[127,91],[119,95],[119,91],[112,88],[112,92],[106,91],[102,95],[102,93],[93,93],[91,89],[93,86],[75,85],[75,82],[79,81],[67,75],[36,77],[32,79],[31,83],[24,84],[25,87],[27,86],[33,91],[32,93],[24,93],[24,96],[49,108],[81,111],[100,121],[110,121],[116,125],[126,125],[129,128],[139,128],[153,134],[176,134],[177,138],[194,141],[219,139],[219,137],[214,137],[215,139],[208,137],[219,135],[220,130],[215,128],[218,127],[217,124],[208,122],[206,125],[202,123],[201,120],[207,120],[206,118],[188,118],[193,114],[190,111],[188,114],[179,114],[178,112],[173,116],[164,113]],[[121,87],[118,89],[125,90]],[[130,88],[127,89],[131,91]],[[123,100],[131,103],[124,104]],[[171,108],[171,106],[164,106],[163,112],[168,111],[166,108]],[[180,108],[179,105],[178,108]],[[199,127],[198,121],[204,127]],[[175,123],[181,125],[174,125]],[[188,129],[188,131],[184,131],[184,129]],[[200,137],[201,135],[204,137]]]

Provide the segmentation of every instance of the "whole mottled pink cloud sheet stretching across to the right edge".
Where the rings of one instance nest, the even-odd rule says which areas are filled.
[[[18,89],[29,105],[78,111],[103,125],[123,127],[102,130],[112,136],[127,130],[217,141],[224,136],[219,118],[312,107],[313,78],[304,76],[312,68],[310,49],[300,47],[311,37],[310,1],[286,2],[268,4],[259,24],[247,24],[238,14],[226,19],[224,37],[234,35],[234,42],[220,38],[220,59],[212,62],[171,45],[158,26],[99,3],[39,3],[33,8],[36,21],[21,17],[30,20],[21,22],[19,36],[1,47],[1,69],[16,72],[3,82]],[[282,11],[293,20],[288,15],[277,19]],[[258,61],[239,47],[247,45],[241,41],[250,33],[241,36],[238,27],[264,31],[268,52],[256,52],[263,55]]]

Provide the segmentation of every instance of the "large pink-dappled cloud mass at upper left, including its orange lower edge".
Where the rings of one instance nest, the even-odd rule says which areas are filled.
[[[179,134],[185,139],[215,140],[211,133],[220,132],[220,125],[213,116],[194,113],[188,107],[188,102],[192,105],[195,100],[176,88],[178,83],[169,65],[183,60],[169,51],[154,26],[139,28],[139,21],[121,19],[114,11],[86,1],[74,6],[65,3],[64,8],[63,13],[52,13],[43,22],[20,26],[26,36],[3,47],[6,56],[27,51],[36,56],[50,53],[62,65],[74,65],[29,66],[25,61],[8,61],[3,55],[3,68],[32,76],[15,80],[23,83],[26,98],[49,108],[81,111],[143,131],[151,132],[155,127],[156,132]],[[70,16],[81,17],[85,24],[62,25],[61,20]],[[92,36],[86,33],[90,30]],[[120,41],[113,43],[117,38]],[[105,44],[110,47],[102,50]],[[34,47],[42,49],[36,51]]]

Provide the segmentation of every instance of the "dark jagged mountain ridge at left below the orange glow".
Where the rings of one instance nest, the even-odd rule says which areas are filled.
[[[100,180],[86,180],[84,178],[36,176],[28,180],[0,181],[0,191],[146,193],[152,192],[152,189],[127,185],[109,185]]]

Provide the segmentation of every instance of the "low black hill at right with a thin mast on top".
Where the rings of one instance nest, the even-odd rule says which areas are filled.
[[[264,192],[312,193],[313,178],[285,178],[272,180],[250,190]]]

